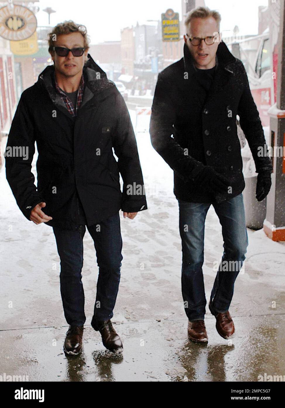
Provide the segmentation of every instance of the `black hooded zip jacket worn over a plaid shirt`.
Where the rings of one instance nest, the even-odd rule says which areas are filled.
[[[70,115],[55,89],[54,66],[46,67],[38,81],[22,93],[6,147],[6,152],[9,146],[11,150],[13,146],[28,147],[28,160],[5,157],[6,177],[25,217],[29,220],[31,209],[46,202],[43,211],[52,217],[46,224],[71,230],[77,230],[85,217],[90,226],[120,209],[147,209],[128,109],[115,84],[89,54],[88,58],[76,117]],[[37,188],[31,173],[35,142]]]

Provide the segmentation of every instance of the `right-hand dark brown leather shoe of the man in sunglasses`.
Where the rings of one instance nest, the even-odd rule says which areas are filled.
[[[91,326],[94,330],[99,331],[102,336],[103,346],[113,353],[119,354],[123,351],[123,344],[120,336],[116,333],[116,330],[113,328],[111,320],[105,320],[104,322],[94,322],[92,320]]]

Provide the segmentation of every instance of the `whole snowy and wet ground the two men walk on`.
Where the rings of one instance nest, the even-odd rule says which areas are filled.
[[[257,381],[285,376],[285,243],[248,230],[244,273],[235,283],[230,313],[235,335],[225,340],[206,307],[208,344],[187,338],[181,295],[181,239],[173,172],[137,135],[148,210],[124,219],[121,282],[112,319],[121,356],[105,351],[90,326],[98,267],[93,241],[84,237],[83,286],[86,324],[83,352],[65,356],[68,325],[59,290],[59,256],[52,228],[36,226],[18,209],[0,172],[0,375],[29,381]],[[222,234],[211,207],[205,226],[203,268],[207,301],[222,256]],[[284,377],[285,379],[285,377]]]

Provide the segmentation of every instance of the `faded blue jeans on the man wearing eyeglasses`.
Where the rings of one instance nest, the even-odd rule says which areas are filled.
[[[205,218],[211,204],[178,200],[178,205],[182,240],[182,296],[186,315],[193,321],[204,319],[206,313],[202,265]],[[248,235],[242,193],[212,205],[222,225],[224,239],[224,254],[211,292],[211,304],[216,313],[226,312],[231,304],[235,279],[245,259]]]

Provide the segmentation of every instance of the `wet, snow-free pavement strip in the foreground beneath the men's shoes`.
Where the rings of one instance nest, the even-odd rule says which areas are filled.
[[[86,326],[83,352],[65,356],[66,327],[1,332],[2,372],[29,381],[257,381],[284,375],[284,315],[233,317],[236,333],[224,340],[205,319],[208,344],[187,338],[185,319],[116,325],[122,355],[104,349]]]

